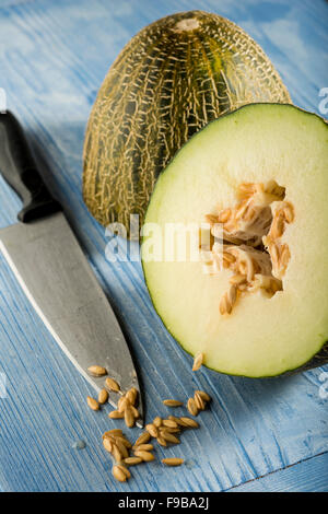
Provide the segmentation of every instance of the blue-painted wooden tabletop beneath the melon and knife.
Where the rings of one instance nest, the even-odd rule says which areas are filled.
[[[203,9],[230,17],[265,49],[292,100],[319,112],[328,86],[324,0],[1,0],[0,87],[16,113],[116,311],[142,370],[148,420],[165,397],[195,388],[213,397],[199,431],[120,484],[101,434],[117,427],[108,408],[87,409],[90,386],[44,327],[0,255],[0,490],[2,491],[328,491],[328,367],[281,379],[209,370],[171,338],[151,305],[139,262],[108,262],[105,231],[81,197],[83,136],[110,63],[148,23]],[[0,227],[20,201],[0,178]],[[0,381],[1,382],[1,381]],[[126,430],[130,439],[139,429]],[[74,442],[86,442],[78,451]],[[183,456],[178,470],[160,458]]]

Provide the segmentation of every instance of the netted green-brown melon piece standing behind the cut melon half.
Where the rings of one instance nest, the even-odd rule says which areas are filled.
[[[231,21],[202,11],[141,30],[99,89],[84,142],[83,198],[107,226],[140,223],[160,173],[210,120],[251,102],[290,103],[278,72]]]

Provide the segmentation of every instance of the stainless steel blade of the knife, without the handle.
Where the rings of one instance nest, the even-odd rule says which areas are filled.
[[[99,364],[121,390],[139,390],[142,427],[142,399],[129,348],[65,215],[1,229],[0,250],[48,330],[90,384],[97,392],[104,387],[104,377],[86,372]],[[119,395],[109,397],[116,407]]]

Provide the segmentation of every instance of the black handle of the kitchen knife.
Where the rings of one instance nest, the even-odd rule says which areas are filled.
[[[37,170],[23,128],[10,112],[0,114],[0,172],[23,201],[23,223],[61,210]]]

